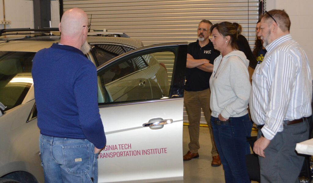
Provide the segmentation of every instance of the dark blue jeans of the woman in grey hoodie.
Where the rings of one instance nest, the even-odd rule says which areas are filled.
[[[250,182],[245,162],[246,134],[252,125],[248,114],[230,117],[226,123],[211,116],[211,124],[226,183]]]

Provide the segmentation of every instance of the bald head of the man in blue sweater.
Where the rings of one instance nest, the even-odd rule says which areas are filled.
[[[85,28],[83,26],[87,25],[87,14],[79,8],[73,8],[64,12],[59,29],[64,36],[75,37],[81,34],[83,28]]]

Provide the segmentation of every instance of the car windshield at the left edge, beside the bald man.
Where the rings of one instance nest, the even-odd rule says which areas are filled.
[[[35,52],[0,52],[0,102],[6,110],[20,105],[33,85]]]

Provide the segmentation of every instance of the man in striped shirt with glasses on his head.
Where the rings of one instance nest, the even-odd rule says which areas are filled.
[[[260,129],[253,149],[259,155],[261,182],[299,182],[304,157],[296,154],[295,145],[309,136],[310,66],[289,34],[284,10],[265,11],[260,29],[267,53],[252,76],[250,112]]]

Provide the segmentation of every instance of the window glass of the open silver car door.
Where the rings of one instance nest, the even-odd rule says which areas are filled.
[[[99,104],[169,98],[176,52],[176,48],[146,51],[121,58],[100,69]],[[131,64],[136,69],[130,70]],[[129,69],[121,68],[124,65]]]

